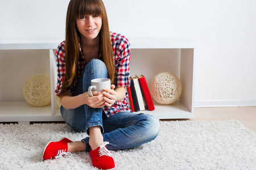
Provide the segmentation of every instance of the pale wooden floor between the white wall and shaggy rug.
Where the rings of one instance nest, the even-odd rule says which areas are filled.
[[[242,122],[246,128],[256,133],[256,107],[195,108],[195,118],[186,120],[225,121],[232,119]]]

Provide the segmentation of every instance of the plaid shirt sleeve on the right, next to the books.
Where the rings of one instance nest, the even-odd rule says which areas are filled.
[[[117,87],[130,86],[130,42],[121,37],[119,43],[115,44],[115,80]]]

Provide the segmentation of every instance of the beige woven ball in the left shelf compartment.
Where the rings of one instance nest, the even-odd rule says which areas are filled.
[[[26,80],[23,96],[27,103],[43,107],[51,102],[50,79],[44,75],[35,75]]]

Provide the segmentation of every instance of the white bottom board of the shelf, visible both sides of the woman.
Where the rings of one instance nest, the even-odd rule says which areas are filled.
[[[152,114],[158,119],[193,118],[191,113],[180,101],[174,104],[161,105],[154,101],[154,111],[139,111],[135,113]],[[20,121],[63,121],[59,109],[51,115],[51,105],[34,107],[28,103],[0,103],[0,122]]]

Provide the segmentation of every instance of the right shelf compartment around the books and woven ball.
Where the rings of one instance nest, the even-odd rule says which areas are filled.
[[[131,49],[130,75],[144,75],[148,88],[154,76],[162,72],[175,74],[181,81],[182,92],[174,104],[156,102],[155,111],[142,111],[159,119],[193,118],[193,67],[195,49]]]

